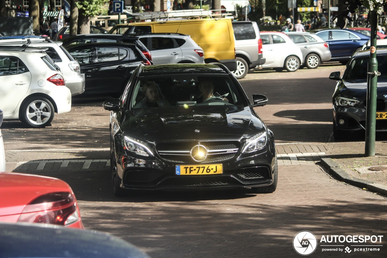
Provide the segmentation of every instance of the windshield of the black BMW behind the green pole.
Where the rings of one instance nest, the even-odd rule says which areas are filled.
[[[368,60],[369,57],[354,58],[344,72],[343,79],[346,81],[366,81]],[[378,71],[381,74],[378,79],[387,78],[387,55],[377,55],[376,60],[378,62]]]

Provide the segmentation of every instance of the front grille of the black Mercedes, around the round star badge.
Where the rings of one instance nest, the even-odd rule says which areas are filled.
[[[208,141],[200,142],[208,150],[207,158],[202,162],[195,162],[190,155],[192,147],[198,144],[198,141],[182,141],[178,143],[158,143],[156,151],[160,157],[166,161],[175,164],[209,164],[215,162],[224,162],[236,156],[240,148],[239,141]]]

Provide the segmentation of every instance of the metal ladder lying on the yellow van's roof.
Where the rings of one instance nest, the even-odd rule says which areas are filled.
[[[217,11],[219,13],[217,13]],[[170,19],[170,18],[203,18],[220,16],[219,18],[229,15],[222,14],[221,10],[204,10],[204,9],[192,9],[192,10],[175,10],[175,11],[158,11],[158,12],[135,12],[132,14],[135,20],[157,20],[157,19]]]

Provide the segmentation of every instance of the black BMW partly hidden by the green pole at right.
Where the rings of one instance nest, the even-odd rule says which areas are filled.
[[[387,131],[387,49],[378,49],[376,131]],[[332,97],[333,134],[336,140],[350,136],[350,132],[364,131],[366,121],[367,71],[370,51],[356,52],[349,61],[342,77],[332,72],[329,79],[336,80]]]

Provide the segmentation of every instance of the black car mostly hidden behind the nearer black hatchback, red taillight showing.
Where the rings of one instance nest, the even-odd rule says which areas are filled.
[[[124,43],[133,43],[135,44],[141,52],[148,58],[149,62],[153,64],[151,52],[146,48],[146,46],[139,40],[138,37],[133,37],[130,35],[122,34],[79,34],[64,38],[61,40],[63,46],[74,44],[84,44],[84,43],[99,43],[99,42],[124,42]]]

